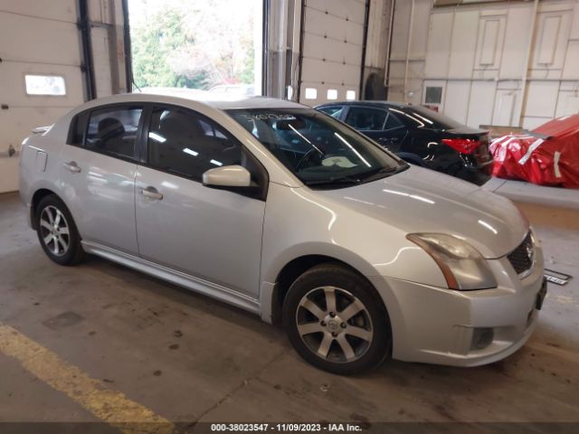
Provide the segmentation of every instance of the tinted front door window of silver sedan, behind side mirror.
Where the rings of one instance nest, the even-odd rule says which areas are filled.
[[[209,169],[241,165],[242,146],[222,127],[200,115],[156,108],[148,130],[148,163],[201,180]]]

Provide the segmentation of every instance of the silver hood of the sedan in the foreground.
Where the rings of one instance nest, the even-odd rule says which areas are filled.
[[[317,193],[408,233],[458,236],[488,259],[514,250],[529,228],[508,199],[416,166],[372,183]]]

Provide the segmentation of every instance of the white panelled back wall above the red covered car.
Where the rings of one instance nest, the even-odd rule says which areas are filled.
[[[388,98],[473,127],[532,128],[579,112],[577,58],[576,0],[397,1]]]

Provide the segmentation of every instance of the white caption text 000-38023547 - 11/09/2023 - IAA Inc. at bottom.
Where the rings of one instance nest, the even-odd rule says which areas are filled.
[[[361,432],[356,423],[212,423],[212,432]]]

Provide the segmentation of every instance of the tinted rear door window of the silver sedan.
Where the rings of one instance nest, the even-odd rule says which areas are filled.
[[[85,146],[112,156],[134,157],[142,112],[140,107],[92,111]]]

